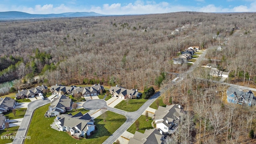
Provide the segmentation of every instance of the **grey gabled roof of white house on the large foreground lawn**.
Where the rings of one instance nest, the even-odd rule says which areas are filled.
[[[89,119],[84,119],[84,117]],[[55,122],[60,122],[61,126],[71,127],[73,130],[79,129],[80,131],[87,131],[87,126],[94,125],[94,121],[92,120],[92,117],[90,117],[89,114],[82,115],[81,112],[79,112],[76,115],[72,114],[60,114],[54,119]],[[88,122],[90,122],[88,124]],[[93,122],[93,124],[91,124]]]

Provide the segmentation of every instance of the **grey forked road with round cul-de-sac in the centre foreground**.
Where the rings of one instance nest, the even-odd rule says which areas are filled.
[[[141,116],[141,114],[148,108],[148,106],[150,106],[159,96],[160,96],[160,92],[157,92],[156,94],[154,94],[154,96],[152,96],[150,99],[148,99],[135,112],[126,112],[124,110],[111,108],[111,107],[107,106],[106,104],[104,104],[104,103],[106,103],[104,100],[90,100],[88,102],[85,102],[83,106],[86,109],[92,109],[92,110],[99,109],[99,107],[101,107],[101,108],[105,107],[108,110],[110,110],[111,112],[115,112],[117,114],[126,116],[126,122],[124,122],[124,124],[122,124],[122,126],[120,126],[112,134],[112,136],[108,137],[108,139],[106,139],[105,142],[102,143],[102,144],[112,144],[113,142],[115,142],[115,140],[117,140],[119,138],[119,136],[121,136]],[[104,101],[104,102],[102,102],[102,101]],[[88,104],[88,103],[90,103],[90,104]],[[97,105],[99,105],[99,107],[97,107]]]

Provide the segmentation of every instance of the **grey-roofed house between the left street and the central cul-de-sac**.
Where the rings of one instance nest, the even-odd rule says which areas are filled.
[[[72,99],[69,98],[68,96],[64,95],[57,95],[57,98],[54,98],[44,114],[44,116],[51,117],[51,116],[57,116],[60,115],[66,110],[71,110],[72,109]]]

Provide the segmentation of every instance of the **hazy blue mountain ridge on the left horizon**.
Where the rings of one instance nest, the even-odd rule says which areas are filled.
[[[83,17],[83,16],[104,16],[95,12],[65,12],[61,14],[29,14],[26,12],[0,12],[0,20],[22,20],[32,18],[61,18],[61,17]]]

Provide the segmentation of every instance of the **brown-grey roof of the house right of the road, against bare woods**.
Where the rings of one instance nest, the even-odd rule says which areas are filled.
[[[154,114],[155,121],[160,120],[159,123],[165,124],[167,127],[171,126],[171,122],[176,118],[180,118],[184,114],[184,111],[179,108],[179,104],[173,104],[170,106],[158,106],[158,110],[156,110]],[[168,123],[166,123],[168,120]],[[158,122],[157,122],[158,123]]]

